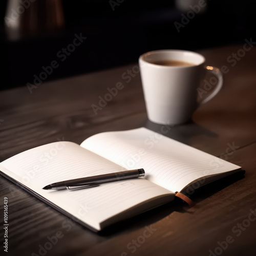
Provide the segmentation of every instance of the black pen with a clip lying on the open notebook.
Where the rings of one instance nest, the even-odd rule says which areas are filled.
[[[123,172],[102,174],[97,176],[90,176],[86,178],[79,178],[74,180],[60,181],[52,183],[43,187],[43,189],[80,189],[99,186],[101,183],[134,179],[145,175],[144,169],[124,170]]]

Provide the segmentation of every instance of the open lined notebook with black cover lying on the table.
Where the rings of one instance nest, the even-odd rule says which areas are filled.
[[[63,180],[144,168],[145,177],[80,190],[44,190]],[[81,145],[59,141],[15,155],[0,174],[93,230],[174,200],[210,181],[240,170],[193,147],[144,127],[105,132]]]

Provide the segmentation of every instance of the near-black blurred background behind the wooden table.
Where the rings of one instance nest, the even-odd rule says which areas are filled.
[[[207,10],[189,19],[180,32],[174,23],[182,23],[184,16],[174,1],[113,1],[118,4],[114,10],[109,0],[63,0],[65,27],[61,31],[39,31],[37,35],[10,40],[4,20],[7,0],[2,0],[1,89],[33,83],[34,75],[53,60],[58,61],[59,67],[46,81],[125,65],[150,50],[197,50],[255,39],[253,0],[208,0]],[[183,14],[187,16],[187,11]],[[75,34],[87,39],[65,61],[60,61],[57,53],[73,42]]]

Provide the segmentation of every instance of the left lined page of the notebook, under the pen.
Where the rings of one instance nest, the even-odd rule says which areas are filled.
[[[97,230],[101,222],[145,200],[167,195],[169,191],[141,178],[75,191],[44,190],[42,187],[123,169],[73,142],[39,146],[3,161],[0,166],[8,176]]]

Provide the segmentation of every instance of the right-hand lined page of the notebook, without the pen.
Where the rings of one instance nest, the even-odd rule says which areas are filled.
[[[196,180],[240,168],[144,127],[97,134],[81,146],[125,168],[144,168],[147,180],[174,192]]]

